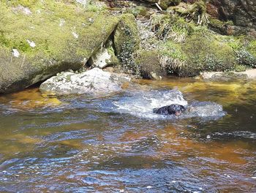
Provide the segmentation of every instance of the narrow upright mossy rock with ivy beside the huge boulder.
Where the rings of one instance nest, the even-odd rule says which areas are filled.
[[[114,34],[116,56],[120,59],[124,70],[135,72],[136,66],[132,54],[140,47],[138,26],[132,14],[121,15],[120,20]]]

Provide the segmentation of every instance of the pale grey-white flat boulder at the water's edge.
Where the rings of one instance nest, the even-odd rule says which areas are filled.
[[[62,72],[46,80],[39,89],[42,92],[56,95],[103,95],[121,91],[121,86],[129,80],[130,78],[127,76],[94,68],[82,73]]]

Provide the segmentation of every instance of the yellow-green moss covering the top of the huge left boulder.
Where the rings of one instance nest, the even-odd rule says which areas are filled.
[[[107,23],[111,20],[111,17],[106,19],[106,15],[85,12],[83,7],[64,4],[61,1],[34,1],[34,4],[30,4],[31,15],[15,13],[11,6],[3,2],[0,4],[4,13],[1,15],[1,45],[16,48],[26,55],[35,56],[40,53],[47,58],[53,56],[56,59],[62,58],[66,54],[62,54],[63,50],[71,50],[70,48],[77,50],[75,46],[80,41],[79,38],[75,38],[76,34],[78,37],[87,36],[88,39],[98,39],[97,31],[102,29],[100,25],[104,25],[105,20]],[[118,19],[114,20],[118,21]],[[28,40],[34,41],[36,47],[31,48]],[[90,49],[93,42],[90,40],[88,42],[88,49]],[[78,50],[76,54],[88,56],[88,50],[84,48],[83,50]]]

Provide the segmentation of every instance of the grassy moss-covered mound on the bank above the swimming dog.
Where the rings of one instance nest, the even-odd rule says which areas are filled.
[[[167,73],[186,77],[236,66],[236,52],[227,37],[177,16],[155,17],[151,30],[159,38],[159,58]]]

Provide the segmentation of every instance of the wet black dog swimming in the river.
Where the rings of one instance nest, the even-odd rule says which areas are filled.
[[[178,104],[172,104],[172,105],[167,105],[164,107],[159,107],[159,108],[154,108],[153,113],[157,113],[160,115],[175,115],[175,116],[180,116],[181,113],[184,113],[185,107],[183,105],[178,105]]]

